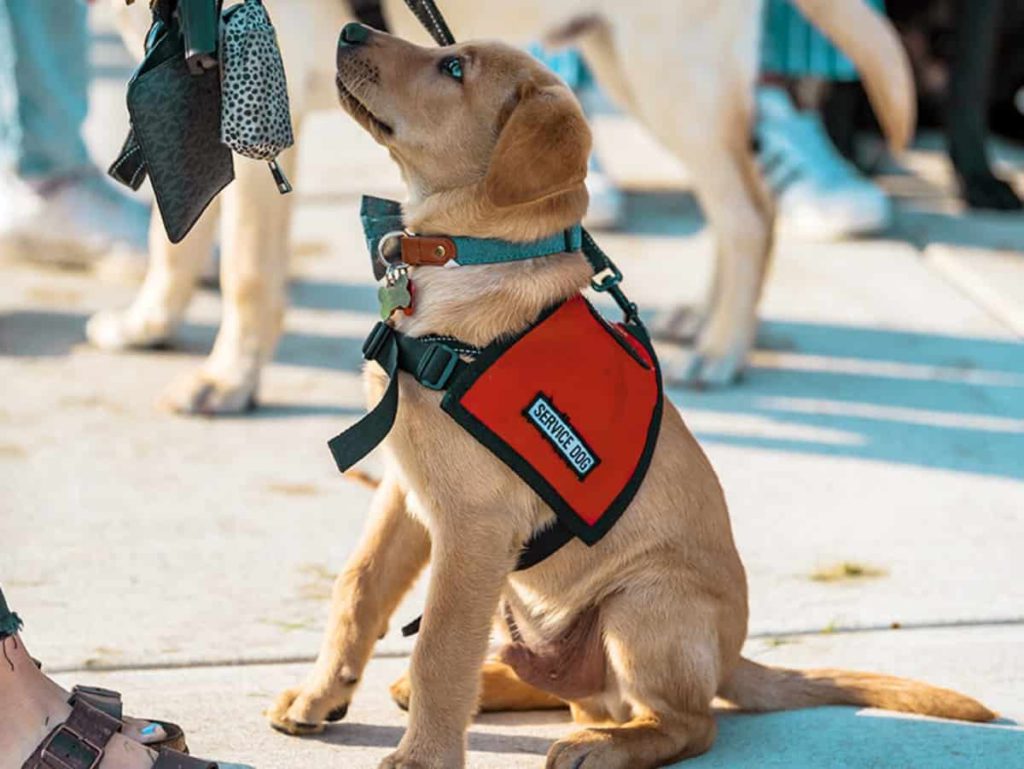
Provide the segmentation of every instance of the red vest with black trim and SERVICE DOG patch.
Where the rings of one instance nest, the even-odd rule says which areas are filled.
[[[643,328],[611,325],[580,296],[484,349],[441,408],[593,545],[647,473],[662,404]]]

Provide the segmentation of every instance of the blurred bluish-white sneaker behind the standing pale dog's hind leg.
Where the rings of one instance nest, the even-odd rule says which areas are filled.
[[[779,237],[833,241],[889,226],[886,194],[839,154],[817,115],[799,112],[782,89],[758,89],[756,133]]]

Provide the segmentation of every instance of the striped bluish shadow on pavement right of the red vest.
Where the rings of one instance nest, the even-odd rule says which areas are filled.
[[[766,323],[758,349],[738,386],[670,384],[700,439],[1024,477],[1022,343]]]

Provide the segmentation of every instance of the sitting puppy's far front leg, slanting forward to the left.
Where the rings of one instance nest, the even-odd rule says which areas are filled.
[[[334,585],[331,617],[306,682],[285,691],[269,710],[271,725],[311,734],[345,716],[374,644],[430,557],[426,528],[406,510],[406,493],[385,475],[374,497],[372,522],[359,549]]]

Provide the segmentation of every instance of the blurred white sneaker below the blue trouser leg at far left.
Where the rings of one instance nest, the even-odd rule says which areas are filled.
[[[36,191],[0,179],[0,253],[68,266],[106,259],[145,262],[150,208],[120,193],[98,171]]]

